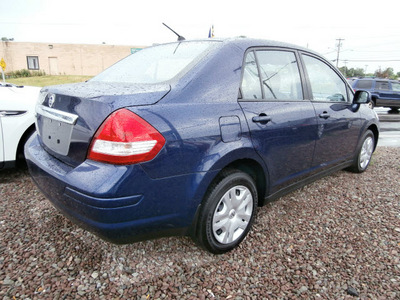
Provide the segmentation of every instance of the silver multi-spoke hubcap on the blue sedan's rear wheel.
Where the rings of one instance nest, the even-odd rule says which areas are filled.
[[[242,185],[232,187],[219,200],[212,219],[212,231],[221,244],[238,240],[249,226],[253,195]]]

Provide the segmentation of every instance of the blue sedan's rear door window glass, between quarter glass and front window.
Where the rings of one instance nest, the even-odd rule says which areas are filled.
[[[266,100],[302,100],[300,73],[293,52],[257,51]]]

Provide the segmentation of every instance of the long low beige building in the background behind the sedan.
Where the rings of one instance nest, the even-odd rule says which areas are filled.
[[[6,73],[28,69],[49,75],[93,76],[142,48],[2,41],[0,59],[6,62]]]

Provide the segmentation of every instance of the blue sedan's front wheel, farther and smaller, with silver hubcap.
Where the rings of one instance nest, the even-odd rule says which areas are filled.
[[[374,150],[375,136],[371,130],[367,130],[357,148],[357,155],[354,158],[353,164],[348,168],[348,170],[354,173],[364,172],[371,162],[371,157]]]

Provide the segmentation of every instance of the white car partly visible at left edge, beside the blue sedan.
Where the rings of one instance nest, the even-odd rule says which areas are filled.
[[[24,145],[35,131],[40,87],[0,83],[0,169],[23,158]]]

